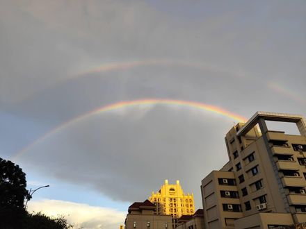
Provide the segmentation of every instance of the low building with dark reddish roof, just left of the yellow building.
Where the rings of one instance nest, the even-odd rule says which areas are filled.
[[[172,217],[170,215],[157,215],[155,205],[150,201],[135,202],[129,206],[125,229],[172,229]]]

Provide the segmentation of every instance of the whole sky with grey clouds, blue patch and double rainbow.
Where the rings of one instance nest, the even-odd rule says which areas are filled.
[[[234,124],[306,117],[305,28],[303,0],[0,0],[0,157],[50,185],[30,211],[83,228],[165,179],[202,207]]]

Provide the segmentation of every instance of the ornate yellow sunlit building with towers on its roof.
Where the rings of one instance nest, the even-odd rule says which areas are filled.
[[[168,180],[165,180],[159,192],[152,192],[149,200],[156,205],[156,214],[172,216],[173,228],[177,226],[179,217],[193,215],[195,212],[193,194],[184,194],[179,180],[175,185],[170,185]]]

